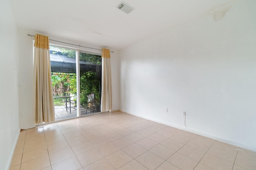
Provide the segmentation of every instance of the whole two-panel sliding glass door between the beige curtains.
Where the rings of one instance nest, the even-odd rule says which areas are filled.
[[[51,46],[50,61],[55,120],[100,112],[101,56]]]

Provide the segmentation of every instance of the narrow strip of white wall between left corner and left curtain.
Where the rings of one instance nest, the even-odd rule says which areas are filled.
[[[30,33],[30,32],[29,32]],[[18,29],[20,127],[35,127],[33,95],[33,39]],[[31,33],[32,34],[32,33]]]

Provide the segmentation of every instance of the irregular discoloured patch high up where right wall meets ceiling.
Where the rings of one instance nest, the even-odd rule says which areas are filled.
[[[220,21],[226,15],[226,12],[231,9],[232,5],[234,5],[236,0],[232,0],[226,4],[220,4],[212,7],[208,12],[206,12],[204,16],[212,15],[214,21]]]

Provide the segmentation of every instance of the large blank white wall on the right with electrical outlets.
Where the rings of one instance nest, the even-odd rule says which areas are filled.
[[[255,1],[119,51],[124,112],[256,150]],[[168,108],[168,113],[164,112]],[[191,130],[192,129],[192,130]]]

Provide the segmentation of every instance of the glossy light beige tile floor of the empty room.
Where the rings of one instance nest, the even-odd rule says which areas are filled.
[[[256,152],[122,112],[22,130],[10,170],[256,170]]]

